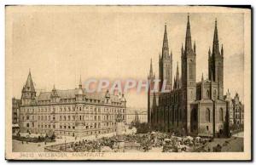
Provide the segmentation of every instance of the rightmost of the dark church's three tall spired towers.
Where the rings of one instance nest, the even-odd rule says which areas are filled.
[[[224,100],[224,49],[219,50],[218,28],[215,20],[215,28],[212,43],[212,55],[208,52],[209,80],[218,83],[218,100]]]

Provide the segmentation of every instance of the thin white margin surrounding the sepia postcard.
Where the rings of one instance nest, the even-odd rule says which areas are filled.
[[[46,4],[54,4],[54,5],[82,5],[82,4],[98,4],[98,5],[102,5],[102,4],[144,4],[144,5],[154,5],[154,4],[168,4],[168,5],[186,5],[186,4],[205,4],[205,5],[219,5],[219,4],[232,4],[232,5],[236,5],[236,4],[252,4],[253,6],[255,6],[256,1],[253,1],[253,0],[248,0],[247,2],[245,1],[241,1],[241,0],[234,0],[234,1],[217,1],[217,0],[205,0],[205,1],[199,1],[199,0],[193,0],[193,1],[185,1],[185,0],[175,0],[175,1],[163,1],[163,0],[160,0],[160,1],[157,1],[157,0],[129,0],[129,1],[124,1],[124,0],[121,0],[121,1],[118,1],[118,0],[113,0],[113,1],[107,1],[107,0],[88,0],[88,1],[81,1],[81,0],[62,0],[62,1],[57,1],[57,0],[44,0],[44,1],[40,1],[40,0],[34,0],[34,1],[29,1],[29,0],[20,0],[20,1],[15,1],[15,0],[3,0],[0,2],[0,34],[1,34],[1,37],[0,37],[0,48],[1,48],[1,53],[0,53],[0,61],[1,61],[1,69],[0,69],[0,74],[1,74],[1,77],[0,78],[0,83],[1,83],[1,87],[2,87],[2,90],[0,92],[0,107],[1,107],[1,118],[2,119],[2,124],[0,124],[0,130],[2,131],[2,139],[0,140],[0,145],[2,146],[2,150],[0,150],[0,156],[1,156],[1,164],[4,163],[6,164],[7,162],[4,161],[4,148],[5,148],[5,58],[4,58],[4,36],[5,36],[5,32],[4,32],[4,7],[5,5],[7,4],[26,4],[26,5],[32,5],[32,4],[43,4],[43,5],[46,5]],[[253,17],[253,22],[255,22],[255,17]],[[254,36],[253,36],[254,37]],[[255,43],[253,43],[253,48],[255,46]],[[255,62],[255,58],[253,59],[253,63]],[[255,71],[253,70],[253,77],[255,77]],[[253,90],[253,94],[254,94],[254,90]],[[256,99],[253,98],[253,102],[255,101]],[[255,112],[253,113],[253,118],[255,118]],[[255,127],[253,127],[254,130],[253,132],[255,132]],[[254,148],[254,147],[253,147]],[[52,163],[52,162],[49,162],[49,163]],[[57,162],[57,163],[63,163],[63,162]],[[86,163],[91,163],[91,162],[86,162]],[[94,164],[95,163],[98,163],[98,162],[93,162]],[[112,163],[112,162],[107,162],[107,163]],[[147,163],[147,162],[144,162],[144,163]],[[173,163],[173,162],[172,162]],[[222,163],[226,163],[226,162],[218,162],[218,164],[222,164]],[[232,162],[232,163],[235,163],[235,162]]]

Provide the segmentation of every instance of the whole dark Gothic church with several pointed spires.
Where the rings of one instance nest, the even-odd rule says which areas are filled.
[[[196,82],[196,45],[192,46],[189,15],[185,45],[181,46],[181,75],[177,64],[172,85],[172,51],[169,53],[165,26],[160,54],[160,88],[167,79],[170,92],[151,92],[154,86],[152,64],[148,75],[148,122],[157,130],[182,130],[187,134],[214,136],[224,133],[227,105],[224,101],[224,48],[219,48],[218,25],[215,20],[212,52],[208,54],[208,77]],[[152,63],[152,61],[151,61]]]

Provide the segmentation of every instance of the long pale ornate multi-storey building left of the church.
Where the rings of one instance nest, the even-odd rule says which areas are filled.
[[[126,100],[123,95],[89,94],[82,88],[36,94],[29,71],[22,89],[20,131],[36,134],[86,136],[116,131],[117,114],[125,122]]]

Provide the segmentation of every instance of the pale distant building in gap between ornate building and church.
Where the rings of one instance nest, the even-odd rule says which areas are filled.
[[[148,122],[148,112],[144,108],[126,108],[126,124],[131,122]]]

